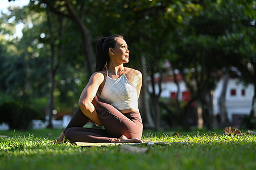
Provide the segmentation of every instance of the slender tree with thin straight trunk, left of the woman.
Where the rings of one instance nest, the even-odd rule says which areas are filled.
[[[43,8],[43,10],[42,10]],[[56,78],[58,74],[61,74],[59,68],[67,67],[66,62],[70,61],[72,53],[76,52],[76,48],[73,48],[74,45],[70,39],[70,35],[74,33],[74,31],[69,31],[73,27],[73,25],[69,25],[67,19],[62,15],[55,15],[55,13],[49,11],[46,4],[41,3],[31,4],[30,9],[33,11],[38,11],[42,13],[42,15],[46,16],[46,19],[43,20],[41,25],[45,25],[46,27],[41,27],[38,34],[38,41],[44,45],[42,52],[40,53],[42,57],[49,58],[48,59],[48,74],[49,74],[49,106],[47,115],[49,117],[48,120],[48,128],[52,128],[52,116],[53,109],[55,109],[55,101],[56,95],[59,91],[56,90]],[[69,31],[69,32],[68,32]],[[68,32],[68,33],[67,33]],[[77,41],[79,42],[79,41]],[[76,44],[75,44],[76,45]],[[72,52],[71,52],[71,49]],[[72,54],[74,56],[74,54]],[[72,63],[76,63],[77,59],[73,59],[73,61],[68,62],[69,65]],[[65,80],[63,80],[65,83]],[[61,93],[61,92],[60,92]],[[61,109],[60,109],[61,111]]]

